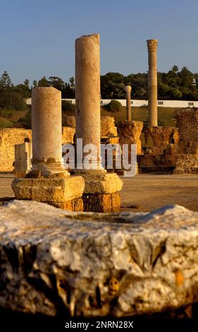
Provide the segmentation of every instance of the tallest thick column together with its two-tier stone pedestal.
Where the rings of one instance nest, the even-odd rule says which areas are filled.
[[[76,138],[82,138],[82,148],[86,144],[97,148],[97,153],[92,155],[92,169],[87,170],[84,163],[82,170],[79,167],[76,170],[85,180],[84,211],[117,212],[123,182],[117,174],[108,174],[101,167],[99,35],[85,35],[75,40],[75,115]],[[83,158],[89,153],[84,151]]]

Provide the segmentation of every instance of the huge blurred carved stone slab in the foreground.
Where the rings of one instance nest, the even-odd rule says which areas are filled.
[[[198,213],[0,208],[0,306],[54,316],[127,316],[198,301]]]

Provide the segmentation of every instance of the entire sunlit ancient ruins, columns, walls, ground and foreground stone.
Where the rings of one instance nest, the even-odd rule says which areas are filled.
[[[75,116],[65,115],[66,126],[61,91],[47,86],[32,89],[32,129],[0,129],[0,307],[196,316],[198,110],[160,125],[157,45],[147,40],[148,122],[135,120],[130,85],[124,117],[101,117],[94,34],[75,40]],[[128,177],[125,160],[135,167]]]

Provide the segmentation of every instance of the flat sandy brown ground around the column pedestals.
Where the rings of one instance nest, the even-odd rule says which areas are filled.
[[[179,204],[198,211],[198,174],[140,174],[122,177],[121,211],[151,211],[167,204]],[[13,174],[0,173],[0,203],[14,197]]]

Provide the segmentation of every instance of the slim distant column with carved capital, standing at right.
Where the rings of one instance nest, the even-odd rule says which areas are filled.
[[[147,47],[149,53],[149,126],[157,126],[157,44],[157,40],[147,40]]]

